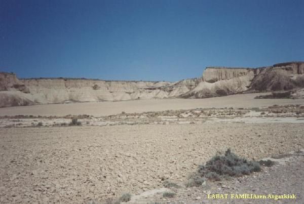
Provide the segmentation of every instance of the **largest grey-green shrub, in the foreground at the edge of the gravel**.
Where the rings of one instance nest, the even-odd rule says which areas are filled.
[[[259,162],[239,157],[227,149],[224,154],[212,157],[206,165],[199,166],[198,172],[189,179],[187,186],[200,186],[205,179],[220,181],[227,177],[249,175],[260,170]]]

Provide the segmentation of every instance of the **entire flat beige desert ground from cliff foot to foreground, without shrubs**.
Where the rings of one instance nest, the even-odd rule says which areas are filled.
[[[304,99],[256,95],[1,108],[0,202],[114,203],[130,193],[130,203],[303,203]],[[72,118],[81,124],[70,126]],[[227,148],[248,159],[283,161],[186,186]],[[165,191],[175,195],[164,197]],[[212,193],[296,199],[208,199]]]

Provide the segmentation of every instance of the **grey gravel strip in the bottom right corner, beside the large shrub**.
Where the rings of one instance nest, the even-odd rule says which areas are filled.
[[[207,181],[205,186],[192,188],[171,188],[165,191],[175,193],[173,198],[164,198],[162,193],[152,196],[138,196],[133,203],[304,203],[304,152],[291,155],[285,162],[273,167],[263,167],[262,172],[249,176],[232,178],[220,182]],[[209,197],[208,198],[208,194]],[[226,198],[212,199],[212,194],[227,194]],[[295,199],[236,199],[236,194],[292,195]],[[232,199],[231,196],[234,196]],[[249,196],[248,196],[249,197]]]

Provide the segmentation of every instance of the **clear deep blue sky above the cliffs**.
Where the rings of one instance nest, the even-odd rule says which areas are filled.
[[[180,80],[304,61],[304,1],[0,0],[0,71]]]

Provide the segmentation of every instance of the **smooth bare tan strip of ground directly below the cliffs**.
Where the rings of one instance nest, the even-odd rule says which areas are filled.
[[[270,94],[270,93],[263,93]],[[274,104],[304,104],[304,99],[254,99],[256,94],[240,94],[225,97],[215,97],[206,99],[151,99],[118,102],[91,102],[91,103],[71,103],[71,104],[48,104],[34,106],[19,106],[0,108],[0,115],[57,115],[68,114],[88,114],[94,116],[118,114],[122,111],[127,113],[179,110],[194,108],[251,108],[270,106]]]

